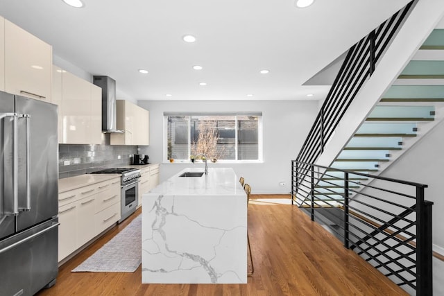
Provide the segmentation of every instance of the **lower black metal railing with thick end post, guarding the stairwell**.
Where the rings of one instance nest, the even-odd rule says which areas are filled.
[[[296,160],[292,176],[298,195],[309,195],[301,209],[311,220],[329,225],[345,247],[407,292],[432,295],[433,203],[425,200],[426,184]],[[319,182],[330,186],[321,190]]]

